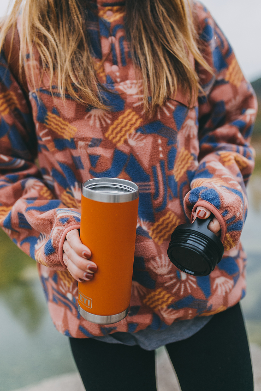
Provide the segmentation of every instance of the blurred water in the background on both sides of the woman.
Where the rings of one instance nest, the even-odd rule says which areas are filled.
[[[252,177],[248,197],[242,233],[248,290],[242,307],[250,341],[261,345],[261,175]],[[0,244],[0,391],[76,371],[67,337],[50,320],[35,262],[1,230]]]

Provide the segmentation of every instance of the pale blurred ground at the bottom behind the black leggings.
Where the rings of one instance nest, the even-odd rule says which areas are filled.
[[[261,348],[251,344],[255,391],[261,391]],[[164,348],[157,350],[158,391],[180,391],[172,364]],[[40,383],[14,391],[85,391],[78,373],[42,380]]]

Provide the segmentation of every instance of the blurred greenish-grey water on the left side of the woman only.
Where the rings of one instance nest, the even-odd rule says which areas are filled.
[[[0,391],[76,371],[68,338],[54,328],[35,261],[0,230]]]

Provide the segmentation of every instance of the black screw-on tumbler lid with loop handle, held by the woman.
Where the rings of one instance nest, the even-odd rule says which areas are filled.
[[[181,224],[171,235],[167,255],[171,262],[185,273],[207,276],[221,261],[224,247],[221,240],[207,228],[214,215]]]

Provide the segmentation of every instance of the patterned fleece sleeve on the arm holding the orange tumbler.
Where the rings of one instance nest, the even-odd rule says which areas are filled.
[[[0,56],[0,226],[37,262],[64,270],[66,233],[80,211],[67,208],[35,164],[37,139],[29,100]]]

